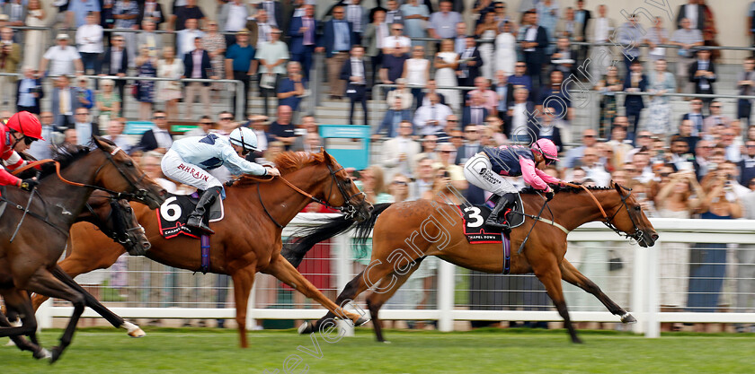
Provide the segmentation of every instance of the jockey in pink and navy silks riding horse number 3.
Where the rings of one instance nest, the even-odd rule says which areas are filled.
[[[539,139],[529,148],[522,145],[485,147],[483,152],[477,153],[466,161],[464,165],[466,180],[476,187],[501,196],[485,224],[506,231],[510,230],[509,223],[505,222],[505,213],[502,217],[499,215],[501,212],[506,212],[505,209],[516,200],[519,191],[502,176],[522,176],[529,186],[545,191],[546,198],[550,201],[554,193],[548,183],[564,182],[547,175],[543,170],[552,162],[559,161],[556,157],[557,153],[553,142],[548,139]]]

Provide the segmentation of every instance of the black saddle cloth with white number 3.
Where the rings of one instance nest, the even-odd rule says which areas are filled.
[[[495,202],[489,201],[488,204],[494,205]],[[511,206],[511,212],[506,216],[512,229],[519,227],[524,222],[524,216],[520,214],[521,206],[521,197],[519,197],[513,206]],[[469,244],[502,242],[501,230],[484,224],[492,211],[489,206],[458,205],[457,208],[464,221],[464,235]]]

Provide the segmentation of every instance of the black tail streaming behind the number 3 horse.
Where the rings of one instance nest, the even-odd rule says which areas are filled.
[[[362,230],[367,230],[367,234],[369,234],[369,230],[375,226],[377,214],[382,213],[388,206],[390,204],[374,205],[369,219],[356,225],[356,227],[360,228],[358,232],[361,233]],[[306,252],[315,247],[315,244],[353,229],[354,223],[353,219],[346,219],[343,215],[339,215],[326,219],[324,224],[298,230],[283,245],[283,249],[280,250],[280,256],[289,260],[289,263],[294,265],[294,267],[298,267],[306,256]],[[367,229],[361,229],[362,226],[366,226]],[[364,242],[364,240],[366,239],[362,239],[361,241]]]

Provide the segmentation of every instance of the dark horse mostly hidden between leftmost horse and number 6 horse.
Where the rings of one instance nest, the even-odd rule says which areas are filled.
[[[30,178],[31,175],[24,175],[23,178]],[[113,241],[120,243],[126,248],[129,253],[135,253],[141,250],[149,249],[149,240],[144,234],[144,228],[139,225],[136,215],[134,215],[131,205],[125,199],[120,199],[118,196],[111,196],[106,192],[95,190],[92,196],[89,196],[89,200],[86,202],[85,209],[79,214],[76,222],[89,222],[99,229],[102,234],[108,236]],[[67,249],[70,251],[70,238],[68,239]],[[67,282],[67,278],[70,278],[59,267],[56,267],[53,272],[56,277],[63,282]],[[62,276],[58,276],[62,274]],[[85,292],[85,303],[87,307],[98,310],[102,307],[99,301],[97,301],[89,292]],[[17,310],[5,310],[4,306],[0,307],[0,318],[3,313],[8,320],[18,319]],[[125,321],[123,318],[115,316],[111,318],[111,324],[113,326],[119,326],[128,331],[128,334],[133,337],[142,337],[145,335],[139,326],[136,326],[130,322]],[[111,316],[109,316],[111,317]],[[36,344],[37,339],[34,335],[36,332],[31,333],[31,341]],[[22,336],[11,336],[13,343],[16,346],[22,347],[22,349],[31,349],[31,345],[26,342]]]

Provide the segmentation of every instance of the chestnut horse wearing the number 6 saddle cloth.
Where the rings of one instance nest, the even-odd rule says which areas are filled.
[[[209,273],[228,274],[234,282],[235,321],[243,348],[248,347],[246,307],[257,272],[275,276],[332,313],[350,319],[356,326],[369,321],[327,299],[294,266],[280,257],[280,249],[283,227],[313,200],[346,211],[350,222],[366,220],[371,205],[364,200],[364,195],[342,166],[327,152],[284,152],[273,163],[282,178],[237,179],[232,186],[226,187],[225,217],[222,221],[210,223],[215,234],[209,237]],[[164,239],[159,232],[155,211],[140,204],[133,204],[133,207],[152,243],[146,254],[148,258],[168,266],[200,270],[200,240],[182,235]],[[59,263],[71,276],[108,268],[123,253],[122,247],[91,227],[74,226],[71,239],[72,252]],[[44,300],[38,295],[33,302],[39,306]]]

